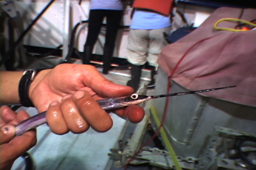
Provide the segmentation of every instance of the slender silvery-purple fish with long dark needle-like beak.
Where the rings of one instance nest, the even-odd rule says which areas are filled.
[[[151,100],[151,99],[158,99],[162,97],[169,97],[169,96],[181,96],[186,94],[198,94],[204,93],[208,91],[216,91],[225,88],[233,88],[236,86],[228,86],[228,87],[221,87],[221,88],[211,88],[199,91],[188,91],[188,92],[181,92],[181,93],[172,93],[172,94],[162,94],[157,96],[145,96],[139,94],[132,94],[131,96],[126,97],[116,97],[116,98],[109,98],[109,99],[102,99],[98,100],[97,102],[104,110],[111,110],[114,108],[122,108],[125,106],[130,105],[137,105],[139,103]],[[20,122],[18,125],[15,126],[16,136],[23,134],[24,132],[34,129],[44,123],[46,123],[46,111],[42,113],[38,113],[35,116],[30,117],[29,119]]]

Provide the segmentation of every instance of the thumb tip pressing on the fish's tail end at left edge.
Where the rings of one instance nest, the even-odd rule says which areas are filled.
[[[0,144],[9,142],[15,136],[15,126],[4,125],[0,129]]]

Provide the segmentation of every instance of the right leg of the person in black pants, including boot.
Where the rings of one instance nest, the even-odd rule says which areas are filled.
[[[105,10],[107,19],[107,29],[105,35],[105,45],[103,51],[103,74],[108,74],[115,48],[116,35],[122,20],[122,11]]]

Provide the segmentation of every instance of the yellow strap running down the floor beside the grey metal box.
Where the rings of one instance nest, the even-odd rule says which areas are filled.
[[[156,110],[155,110],[153,105],[151,105],[150,111],[151,111],[151,114],[152,114],[156,124],[157,124],[157,127],[159,127],[160,126],[160,120],[157,117],[157,113],[156,113]],[[172,161],[174,163],[174,166],[176,167],[176,170],[182,170],[181,167],[180,167],[179,161],[177,160],[176,154],[175,154],[175,152],[172,148],[172,145],[169,142],[168,137],[166,135],[166,132],[164,131],[163,128],[160,129],[160,134],[163,137],[163,141],[166,144],[166,147],[167,147],[167,150],[168,150],[170,156],[172,157]]]

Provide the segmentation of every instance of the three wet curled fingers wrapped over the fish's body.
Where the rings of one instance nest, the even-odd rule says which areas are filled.
[[[64,134],[69,130],[83,133],[90,126],[99,132],[105,132],[113,125],[108,113],[85,91],[64,96],[61,103],[52,102],[46,119],[52,132],[57,134]]]

